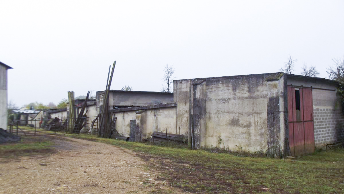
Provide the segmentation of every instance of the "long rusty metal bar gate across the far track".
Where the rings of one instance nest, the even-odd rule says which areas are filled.
[[[28,123],[21,125],[20,123]],[[10,122],[9,132],[17,135],[58,135],[98,132],[98,116],[75,119],[14,120]],[[28,133],[27,133],[28,132]],[[33,132],[33,134],[32,134]],[[45,132],[45,133],[39,133]],[[50,132],[50,133],[47,133]],[[27,133],[27,134],[26,134]]]

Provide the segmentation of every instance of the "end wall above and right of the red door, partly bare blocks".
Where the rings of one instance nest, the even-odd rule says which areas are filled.
[[[298,85],[329,90],[312,89],[315,147],[343,143],[344,116],[337,96],[337,84],[321,79],[288,78],[288,85]],[[331,91],[334,90],[334,91]]]

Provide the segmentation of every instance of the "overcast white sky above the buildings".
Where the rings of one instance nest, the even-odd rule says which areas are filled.
[[[18,106],[87,91],[160,91],[175,80],[279,72],[320,77],[344,55],[344,1],[0,1],[0,61]]]

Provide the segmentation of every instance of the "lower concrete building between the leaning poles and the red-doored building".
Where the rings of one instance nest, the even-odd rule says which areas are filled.
[[[105,91],[96,92],[97,112],[101,113],[101,105]],[[117,117],[116,130],[119,134],[129,137],[130,120],[140,131],[138,141],[147,139],[155,130],[175,133],[175,103],[171,92],[145,92],[110,90],[109,112]]]

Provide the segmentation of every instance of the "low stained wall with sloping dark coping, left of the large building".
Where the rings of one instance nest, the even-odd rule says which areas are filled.
[[[119,134],[129,137],[130,120],[136,120],[136,125],[139,131],[142,132],[142,135],[140,135],[141,140],[151,137],[153,126],[155,131],[165,132],[167,128],[167,133],[179,134],[179,130],[176,133],[175,109],[175,107],[164,107],[142,111],[115,112],[114,117],[117,117],[116,130]],[[120,109],[117,111],[120,111]]]

